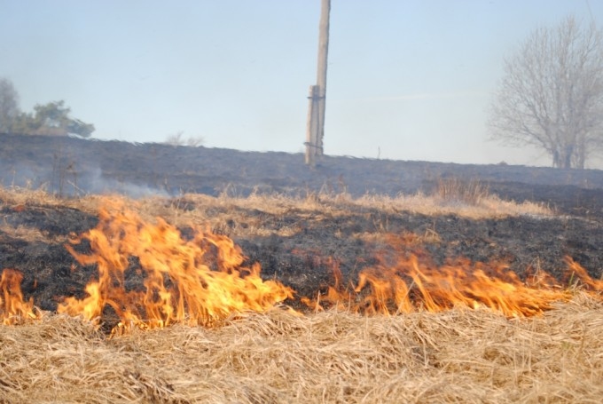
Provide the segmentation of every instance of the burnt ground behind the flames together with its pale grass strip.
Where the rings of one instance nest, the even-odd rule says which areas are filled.
[[[77,265],[66,245],[75,235],[98,226],[98,210],[105,202],[7,191],[0,201],[0,266],[24,274],[26,297],[35,297],[36,305],[50,311],[64,297],[82,297],[97,269]],[[190,194],[128,203],[144,212],[150,223],[159,217],[174,224],[183,240],[192,239],[196,226],[232,239],[242,250],[245,265],[258,263],[264,279],[276,279],[296,291],[287,302],[296,308],[300,297],[325,294],[335,281],[334,267],[341,271],[342,284],[355,285],[365,268],[398,256],[419,256],[433,267],[468,260],[468,271],[474,264],[508,267],[521,279],[545,271],[567,281],[567,257],[594,279],[600,278],[603,268],[603,226],[593,218],[531,212],[507,216],[477,206],[470,206],[464,216],[451,213],[460,209],[457,206],[445,210],[444,202],[443,207],[431,208],[445,212],[438,214],[404,210],[409,203],[405,200],[358,202],[325,196],[294,202],[281,197]],[[90,245],[84,242],[77,248],[85,253]],[[137,258],[129,258],[137,267]],[[136,278],[135,272],[129,275]]]

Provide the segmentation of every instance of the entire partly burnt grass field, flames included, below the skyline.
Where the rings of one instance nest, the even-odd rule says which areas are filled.
[[[171,156],[190,149],[153,146],[151,173],[139,146],[137,170],[101,176],[167,178],[134,199],[82,179],[81,155],[114,144],[34,140],[4,146],[0,401],[600,400],[600,172],[333,159],[296,176],[216,150],[230,174],[204,194]]]

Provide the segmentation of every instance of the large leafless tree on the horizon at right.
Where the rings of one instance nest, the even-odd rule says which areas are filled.
[[[536,146],[553,167],[584,168],[603,151],[603,33],[567,17],[538,28],[513,57],[489,115],[491,139]]]

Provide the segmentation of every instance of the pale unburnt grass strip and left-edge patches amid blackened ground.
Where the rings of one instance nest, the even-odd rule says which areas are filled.
[[[274,218],[282,218],[285,221],[286,218],[292,217],[297,220],[320,221],[322,218],[332,219],[349,215],[350,210],[363,209],[378,210],[384,216],[407,211],[427,216],[458,215],[472,219],[509,216],[546,218],[554,215],[552,210],[540,203],[503,201],[495,194],[488,194],[482,186],[469,186],[463,191],[464,186],[452,181],[452,185],[448,185],[450,188],[448,194],[442,191],[445,197],[437,192],[433,195],[414,194],[395,197],[366,194],[359,198],[352,198],[349,194],[314,193],[304,197],[283,194],[251,194],[247,197],[233,197],[226,194],[219,197],[183,194],[172,198],[154,196],[138,200],[127,199],[127,203],[146,221],[161,217],[175,226],[207,226],[219,234],[260,237],[272,234],[288,237],[299,231],[295,226],[276,226],[276,229],[275,226],[266,226],[266,219],[269,217],[272,221]],[[442,187],[446,188],[443,185]],[[452,188],[456,191],[452,191]],[[480,194],[480,197],[471,199],[466,195],[466,201],[463,202],[454,196],[463,193]],[[105,195],[86,195],[62,199],[47,194],[41,189],[0,186],[0,209],[17,212],[27,209],[27,206],[50,208],[61,206],[96,215],[105,198]],[[383,231],[387,232],[387,223],[375,223],[375,226],[376,228],[382,226]],[[27,242],[48,240],[47,234],[40,233],[36,228],[11,226],[1,217],[0,231]],[[437,236],[437,234],[431,235]],[[426,234],[426,237],[428,236],[430,234]],[[64,240],[55,238],[51,242],[64,242]]]

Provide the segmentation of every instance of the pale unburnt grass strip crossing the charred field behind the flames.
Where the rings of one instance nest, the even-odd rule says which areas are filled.
[[[47,194],[41,189],[0,186],[0,206],[12,208],[34,205],[66,206],[82,209],[95,214],[102,202],[102,195],[87,195],[62,199]],[[364,207],[385,212],[409,211],[424,215],[454,214],[467,218],[504,218],[507,216],[552,216],[552,210],[541,203],[504,201],[496,194],[489,194],[487,186],[479,181],[470,183],[455,179],[442,180],[434,194],[388,195],[366,194],[353,198],[349,194],[315,194],[291,197],[283,194],[251,194],[247,197],[212,197],[202,194],[183,194],[172,198],[146,197],[132,201],[139,211],[150,216],[167,218],[176,226],[180,223],[197,222],[199,218],[209,219],[210,225],[226,219],[216,216],[215,208],[221,208],[222,215],[231,215],[234,209],[262,210],[271,215],[285,216],[291,210],[316,214],[333,213],[349,207]],[[207,222],[206,222],[207,223]]]

